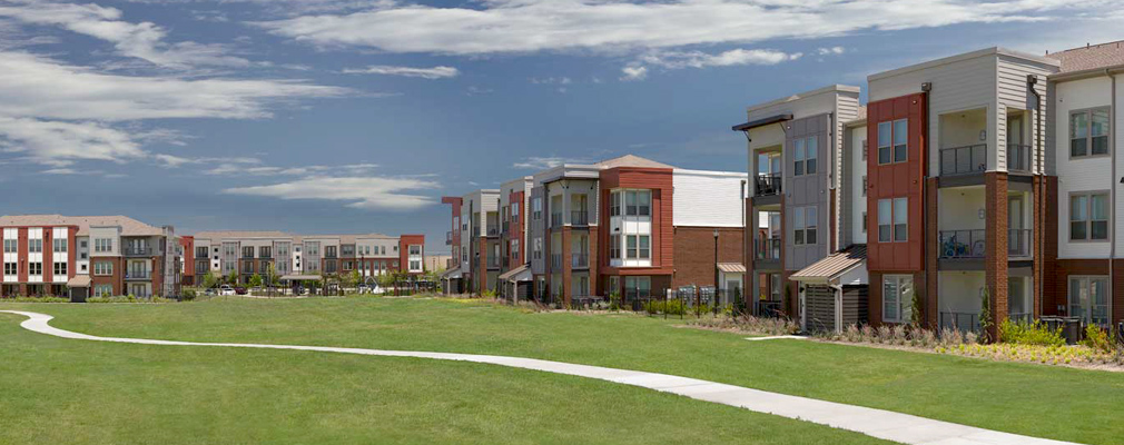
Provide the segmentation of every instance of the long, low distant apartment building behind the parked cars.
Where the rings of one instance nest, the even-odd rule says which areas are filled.
[[[283,231],[201,231],[191,238],[192,281],[205,273],[308,280],[357,272],[373,280],[389,272],[420,275],[425,267],[425,236],[382,234],[293,235]]]

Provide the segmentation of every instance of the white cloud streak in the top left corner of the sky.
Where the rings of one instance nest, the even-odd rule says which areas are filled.
[[[167,31],[149,21],[120,20],[119,9],[93,3],[75,4],[35,0],[9,0],[0,17],[30,25],[57,26],[114,44],[124,56],[154,65],[187,69],[194,65],[248,66],[250,61],[229,55],[225,45],[196,42],[166,43]]]

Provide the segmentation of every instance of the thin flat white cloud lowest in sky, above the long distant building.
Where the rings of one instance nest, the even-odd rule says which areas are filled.
[[[226,189],[227,194],[270,197],[283,200],[318,199],[345,201],[365,210],[414,210],[433,203],[433,198],[409,193],[436,189],[437,183],[416,178],[308,176],[291,182]]]

